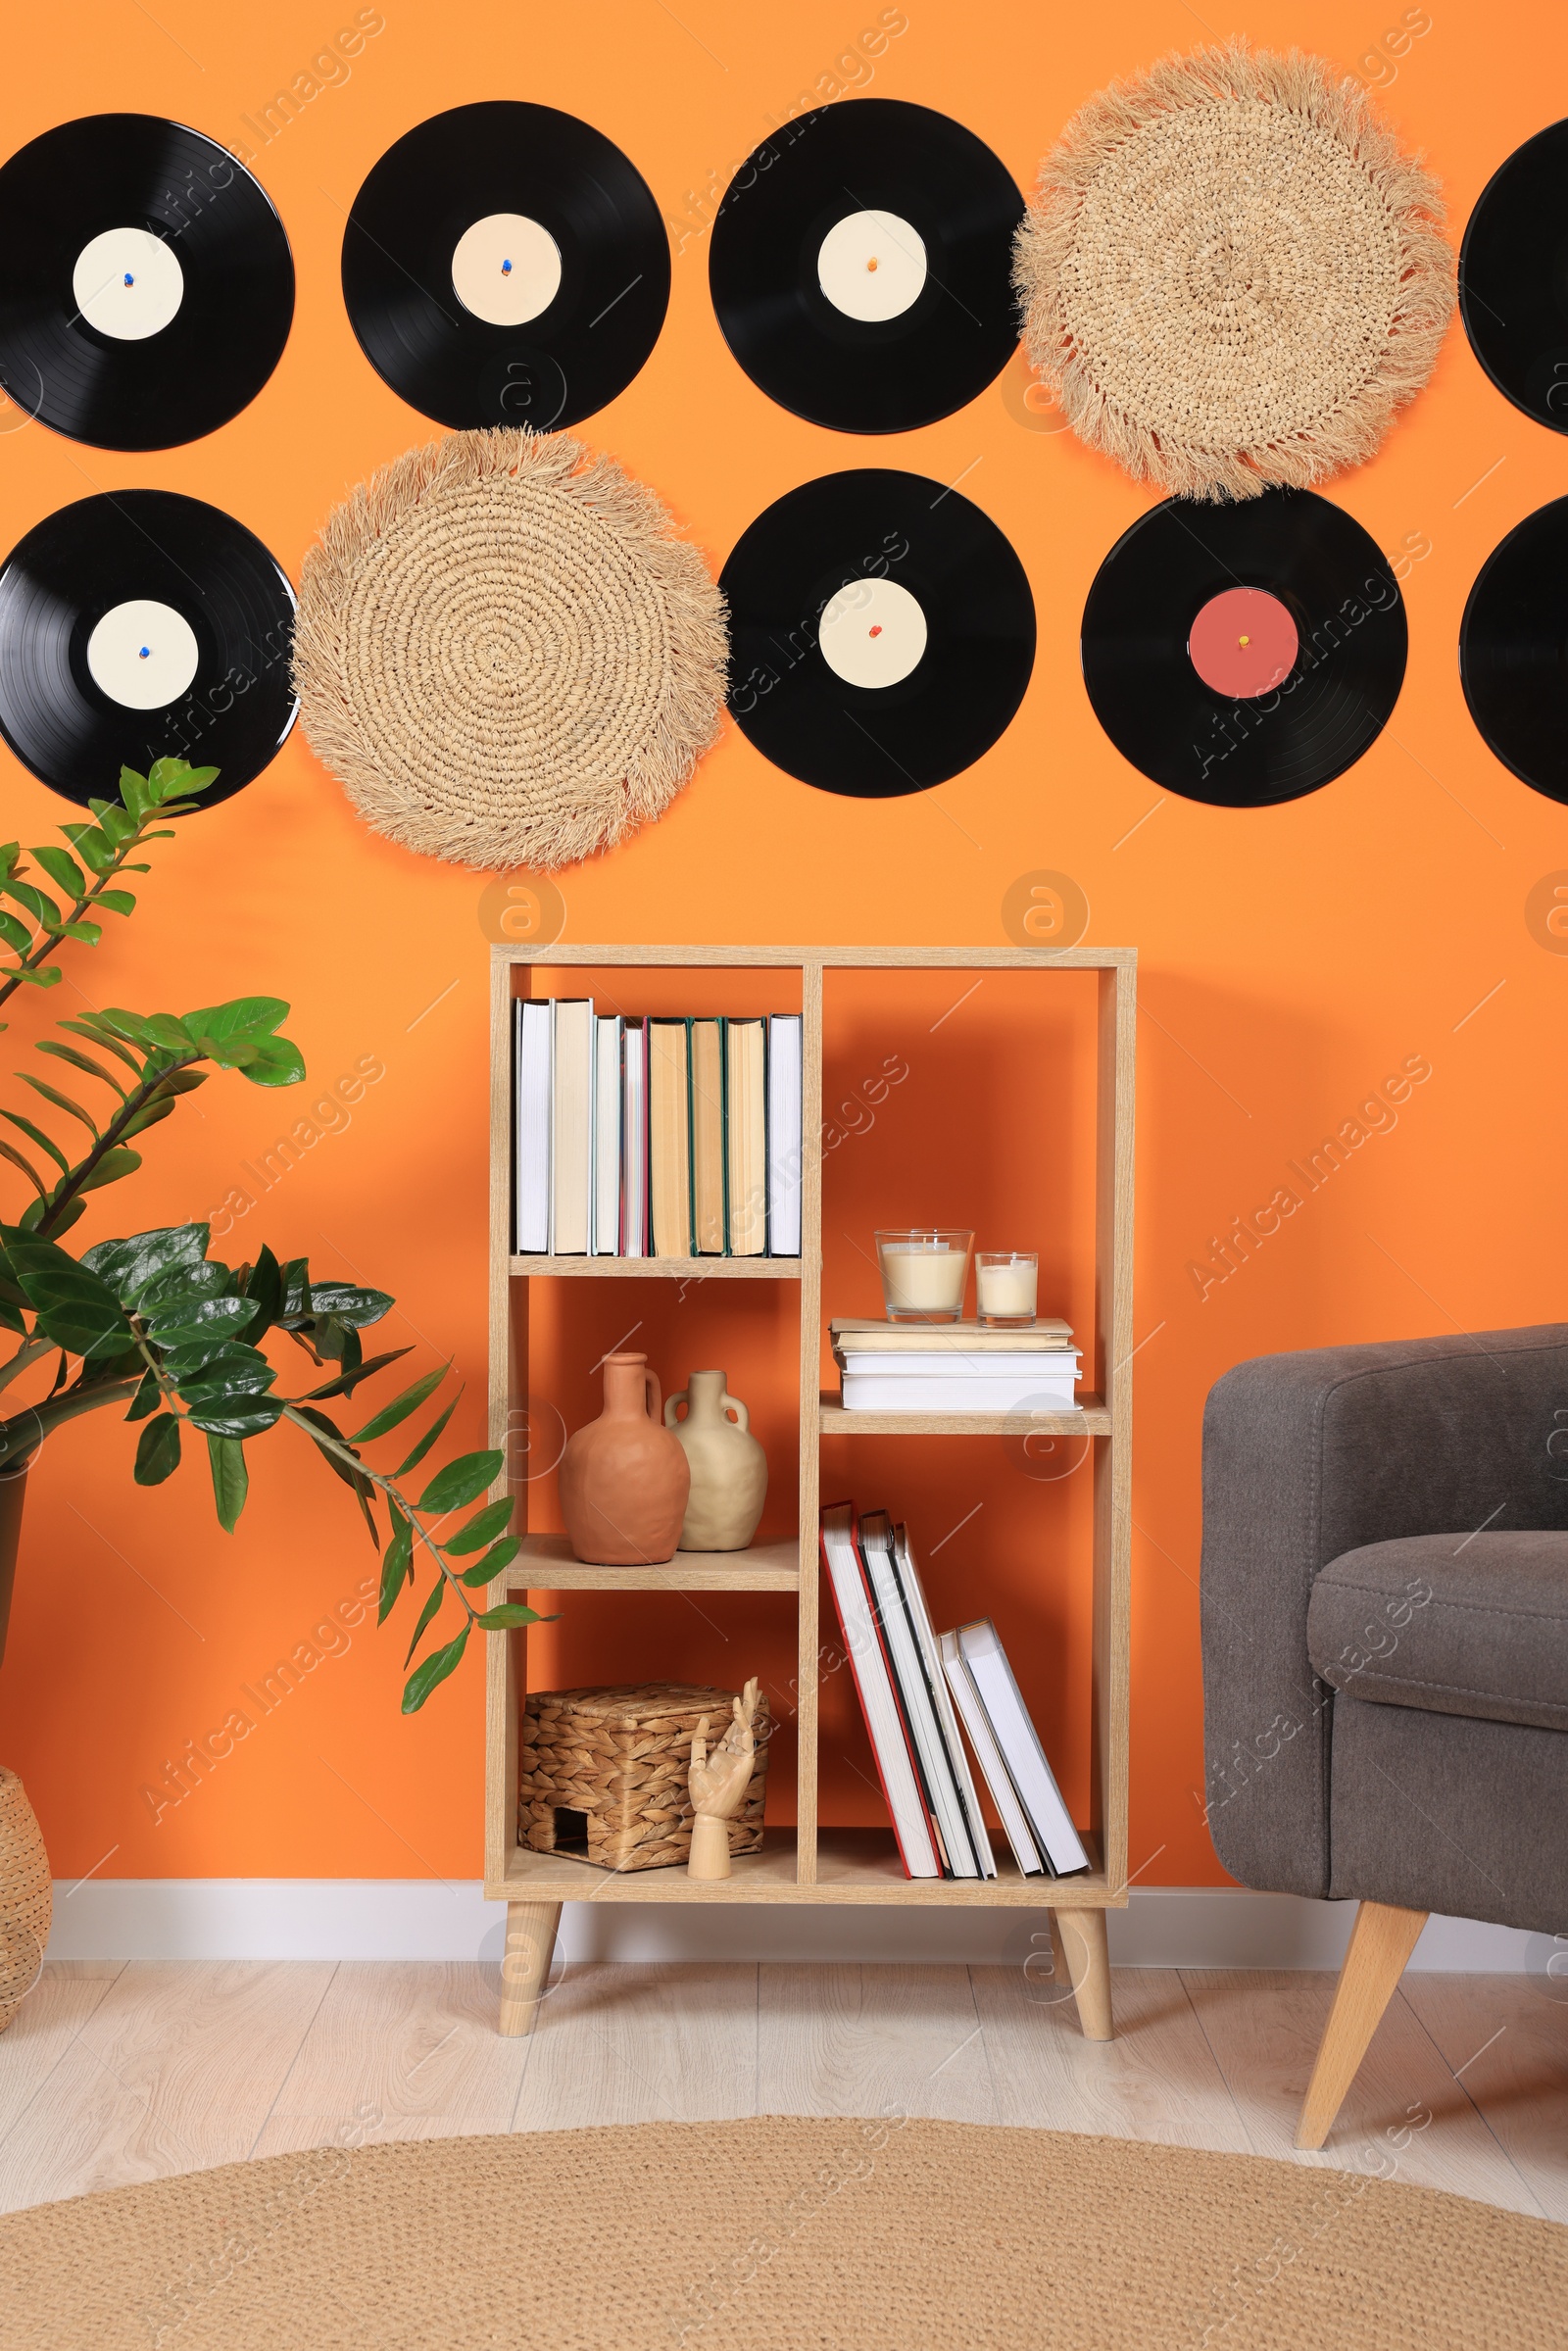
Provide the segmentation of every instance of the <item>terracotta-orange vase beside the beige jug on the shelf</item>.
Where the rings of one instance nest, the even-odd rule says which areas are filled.
[[[646,1354],[604,1357],[604,1411],[567,1439],[562,1516],[585,1566],[675,1559],[691,1469],[658,1418]]]

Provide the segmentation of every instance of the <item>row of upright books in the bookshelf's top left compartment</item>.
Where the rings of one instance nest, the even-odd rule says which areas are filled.
[[[799,1258],[799,1013],[512,1009],[520,1255]]]

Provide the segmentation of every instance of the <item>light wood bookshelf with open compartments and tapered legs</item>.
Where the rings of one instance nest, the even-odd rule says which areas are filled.
[[[602,1568],[571,1556],[564,1535],[527,1528],[524,1549],[489,1589],[491,1603],[543,1592],[792,1592],[799,1629],[797,1824],[764,1831],[759,1853],[736,1855],[733,1876],[698,1883],[684,1869],[602,1871],[517,1843],[517,1719],[527,1693],[527,1632],[489,1634],[484,1754],[484,1895],[508,1904],[501,2031],[527,2034],[550,1965],[562,1902],[842,1902],[1048,1909],[1058,1963],[1077,1991],[1088,2038],[1110,2038],[1105,1911],[1126,1888],[1128,1617],[1131,1617],[1131,1359],[1133,1359],[1133,1049],[1135,950],[1067,947],[512,947],[491,950],[491,1180],[489,1180],[489,1441],[505,1451],[529,1387],[534,1281],[799,1281],[799,1535],[750,1552],[677,1552],[668,1566]],[[520,1258],[512,1253],[512,1002],[536,971],[689,969],[693,1009],[712,994],[703,973],[799,976],[802,1006],[802,1253],[795,1258]],[[846,1413],[820,1394],[823,1338],[823,983],[832,971],[1098,973],[1095,1049],[1095,1385],[1065,1413]],[[548,990],[538,990],[548,992]],[[715,1011],[724,1006],[715,999]],[[1091,1791],[1084,1843],[1091,1867],[1072,1878],[1023,1878],[997,1855],[997,1878],[905,1878],[889,1829],[818,1824],[818,1467],[823,1436],[1063,1434],[1093,1446]],[[999,1841],[1004,1843],[1004,1841]]]

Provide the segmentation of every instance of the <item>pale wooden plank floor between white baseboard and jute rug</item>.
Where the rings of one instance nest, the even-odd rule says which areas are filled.
[[[1034,2123],[1378,2170],[1568,2222],[1568,2001],[1408,1975],[1321,2156],[1333,1977],[1117,1970],[1117,2041],[1011,1968],[49,1965],[0,2036],[0,2210],[320,2144],[745,2114]]]

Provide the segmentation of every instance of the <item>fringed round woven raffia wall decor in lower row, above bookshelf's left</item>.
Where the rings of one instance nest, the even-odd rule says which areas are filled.
[[[724,600],[651,489],[567,433],[454,433],[327,520],[294,684],[390,839],[574,865],[661,816],[719,731]]]

